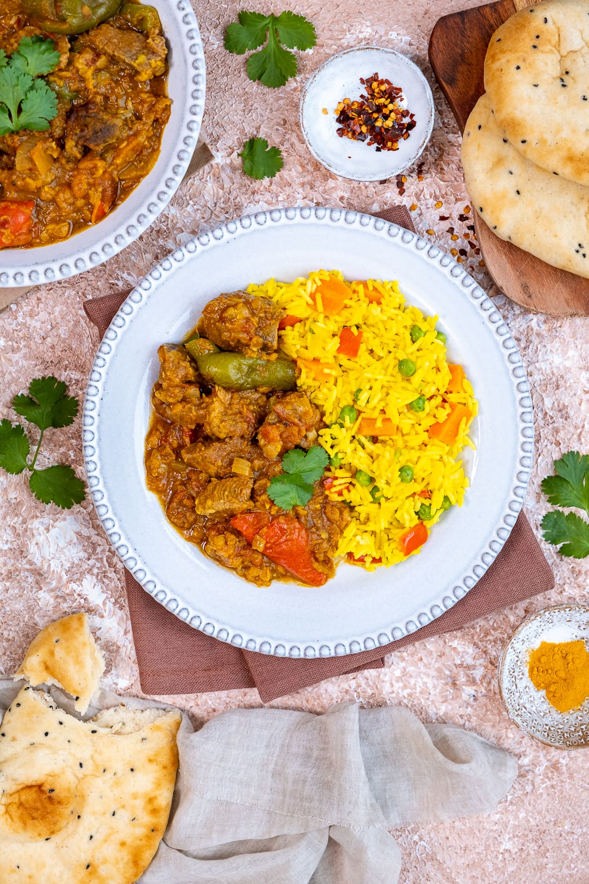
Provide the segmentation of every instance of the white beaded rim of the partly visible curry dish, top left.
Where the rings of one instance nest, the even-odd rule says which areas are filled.
[[[172,99],[162,151],[125,202],[94,227],[39,248],[0,251],[0,288],[36,286],[87,271],[116,255],[155,221],[179,187],[199,138],[205,103],[205,57],[190,0],[149,0],[168,42]]]

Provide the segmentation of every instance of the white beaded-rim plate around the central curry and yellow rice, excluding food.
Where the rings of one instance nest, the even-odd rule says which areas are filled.
[[[346,278],[398,279],[409,303],[438,314],[449,354],[480,401],[472,487],[419,556],[369,573],[341,564],[321,590],[256,587],[207,559],[166,522],[147,492],[144,438],[156,350],[182,339],[204,305],[270,277],[319,268]],[[162,605],[239,647],[315,657],[373,648],[438,617],[494,560],[516,522],[532,462],[532,401],[502,317],[464,270],[414,233],[369,215],[328,209],[261,212],[177,249],[129,295],[106,332],[87,386],[83,422],[96,512],[125,566]]]

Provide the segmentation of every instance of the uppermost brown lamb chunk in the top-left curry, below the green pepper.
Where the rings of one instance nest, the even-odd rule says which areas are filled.
[[[162,77],[166,71],[166,42],[163,37],[145,37],[139,31],[127,31],[105,24],[87,34],[92,45],[137,72],[136,80]]]

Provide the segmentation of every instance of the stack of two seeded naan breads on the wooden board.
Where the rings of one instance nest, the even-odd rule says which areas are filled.
[[[589,3],[547,0],[499,27],[464,128],[474,208],[501,237],[589,278]]]

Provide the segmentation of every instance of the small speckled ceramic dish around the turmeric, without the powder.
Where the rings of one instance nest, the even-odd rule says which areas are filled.
[[[589,607],[558,605],[525,618],[502,650],[498,667],[499,693],[505,711],[517,727],[539,743],[555,749],[589,746],[589,699],[578,709],[559,713],[537,690],[528,674],[529,653],[540,641],[589,639]]]

